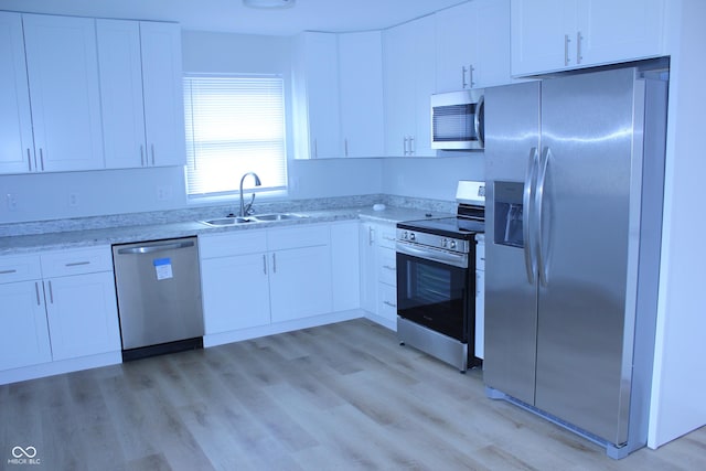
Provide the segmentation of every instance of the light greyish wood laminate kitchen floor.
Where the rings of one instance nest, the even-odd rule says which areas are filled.
[[[614,461],[363,319],[0,386],[0,420],[8,470],[706,469],[705,428]]]

